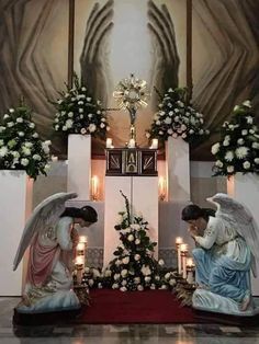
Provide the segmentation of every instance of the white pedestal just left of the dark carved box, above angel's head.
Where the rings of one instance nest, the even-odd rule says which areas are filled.
[[[91,136],[68,136],[67,191],[78,194],[78,199],[91,199]]]

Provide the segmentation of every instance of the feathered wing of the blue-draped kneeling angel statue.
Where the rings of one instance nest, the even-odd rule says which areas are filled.
[[[250,211],[241,203],[218,193],[207,202],[216,205],[216,217],[230,223],[248,243],[252,255],[259,260],[259,229]]]

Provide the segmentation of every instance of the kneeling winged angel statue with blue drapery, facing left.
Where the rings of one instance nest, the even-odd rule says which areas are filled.
[[[195,309],[233,316],[254,316],[250,271],[256,277],[259,257],[259,231],[249,210],[226,194],[218,193],[207,200],[217,208],[209,216],[198,205],[182,210],[189,232],[196,243],[198,288],[192,298]]]

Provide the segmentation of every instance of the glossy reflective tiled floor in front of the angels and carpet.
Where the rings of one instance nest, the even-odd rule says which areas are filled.
[[[0,298],[0,344],[256,344],[258,326],[218,324],[14,326],[18,298]]]

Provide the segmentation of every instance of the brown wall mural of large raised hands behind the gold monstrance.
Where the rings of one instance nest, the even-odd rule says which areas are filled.
[[[74,69],[104,106],[116,107],[117,82],[134,73],[147,81],[149,105],[137,114],[137,141],[147,145],[145,129],[161,93],[185,85],[187,2],[183,0],[75,0]],[[193,150],[210,159],[214,131],[233,106],[245,99],[259,107],[257,0],[192,0],[193,101],[204,113],[211,140]],[[68,76],[69,0],[0,0],[0,113],[21,94],[34,110],[43,138],[56,153],[66,142],[54,133],[55,100]],[[235,13],[235,15],[234,15]],[[128,139],[130,119],[111,111],[111,136],[116,146]],[[104,145],[93,144],[95,154]]]

